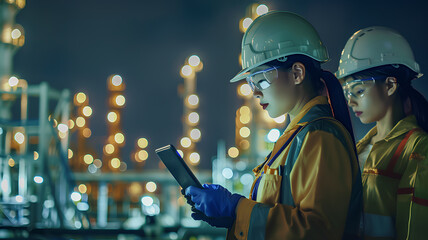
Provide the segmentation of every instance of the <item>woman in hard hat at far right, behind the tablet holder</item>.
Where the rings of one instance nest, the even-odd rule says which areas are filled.
[[[357,144],[366,239],[428,236],[428,102],[412,87],[422,74],[409,43],[385,27],[357,31],[336,73],[349,107],[376,123]]]

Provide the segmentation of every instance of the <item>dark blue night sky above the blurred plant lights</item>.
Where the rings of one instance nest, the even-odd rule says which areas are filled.
[[[29,84],[43,81],[72,94],[83,91],[93,108],[90,144],[102,153],[107,137],[107,77],[126,84],[122,126],[127,144],[149,140],[148,167],[157,166],[154,149],[177,144],[182,135],[182,100],[177,86],[186,57],[204,63],[197,93],[202,140],[201,167],[208,168],[217,141],[234,144],[235,110],[241,102],[229,79],[240,70],[239,20],[250,1],[29,0],[16,22],[25,45],[14,58],[14,73]],[[263,1],[270,10],[287,10],[308,19],[330,53],[324,69],[335,71],[340,52],[357,30],[373,25],[396,29],[410,42],[422,72],[428,73],[426,1]],[[427,77],[414,81],[428,96]],[[355,120],[355,119],[354,119]],[[354,121],[361,138],[368,126]],[[132,167],[132,164],[128,166]]]

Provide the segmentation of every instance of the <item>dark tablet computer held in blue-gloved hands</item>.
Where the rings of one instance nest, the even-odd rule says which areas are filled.
[[[193,174],[173,145],[158,148],[155,152],[183,189],[189,186],[202,188],[195,174]]]

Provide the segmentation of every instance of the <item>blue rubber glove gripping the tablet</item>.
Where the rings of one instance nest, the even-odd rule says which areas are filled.
[[[217,184],[204,184],[201,188],[186,188],[186,196],[194,203],[194,207],[208,217],[231,217],[235,219],[235,209],[243,196],[232,194]]]

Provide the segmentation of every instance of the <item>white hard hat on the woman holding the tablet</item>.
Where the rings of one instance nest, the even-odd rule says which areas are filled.
[[[256,18],[242,38],[242,71],[230,82],[244,79],[249,71],[273,60],[301,54],[319,62],[328,61],[327,49],[318,32],[303,17],[272,11]]]

